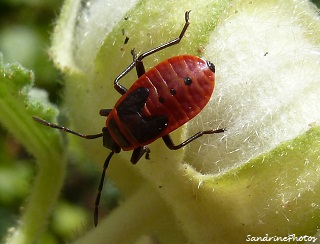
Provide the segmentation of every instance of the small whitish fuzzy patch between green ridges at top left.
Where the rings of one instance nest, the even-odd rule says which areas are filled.
[[[75,28],[74,57],[82,70],[92,72],[93,62],[106,36],[137,0],[83,1]]]

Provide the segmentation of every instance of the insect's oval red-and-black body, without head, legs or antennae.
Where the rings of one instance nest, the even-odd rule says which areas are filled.
[[[213,64],[201,58],[182,55],[162,61],[118,100],[106,121],[111,137],[131,150],[169,134],[204,108],[214,83]]]

